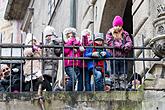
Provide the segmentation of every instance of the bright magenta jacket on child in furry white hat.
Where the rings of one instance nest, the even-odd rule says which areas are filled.
[[[65,46],[72,46],[72,45],[75,45],[75,46],[81,46],[80,44],[80,41],[76,40],[75,38],[72,38],[72,39],[69,39],[66,43],[65,43]],[[74,49],[73,48],[67,48],[65,47],[64,49],[64,56],[65,57],[70,57],[70,58],[77,58],[77,57],[81,57],[82,56],[82,52],[77,49],[77,52],[74,52],[74,55],[73,55],[73,52],[74,52]],[[82,61],[81,60],[65,60],[65,67],[68,67],[68,66],[77,66],[77,67],[82,67]]]

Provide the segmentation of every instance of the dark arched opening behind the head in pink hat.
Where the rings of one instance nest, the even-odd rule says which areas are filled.
[[[99,31],[106,33],[112,27],[113,18],[116,15],[120,15],[124,20],[124,29],[132,33],[131,10],[132,0],[106,0]]]

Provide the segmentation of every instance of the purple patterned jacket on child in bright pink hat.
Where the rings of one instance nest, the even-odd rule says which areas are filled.
[[[124,57],[127,56],[128,53],[131,51],[132,48],[132,40],[128,34],[128,32],[123,31],[122,33],[123,39],[118,40],[118,39],[114,39],[114,37],[112,36],[112,33],[110,33],[109,31],[106,34],[106,41],[108,46],[115,48],[114,50],[114,54],[113,54],[113,49],[110,49],[110,53],[112,54],[112,56],[115,57]]]

